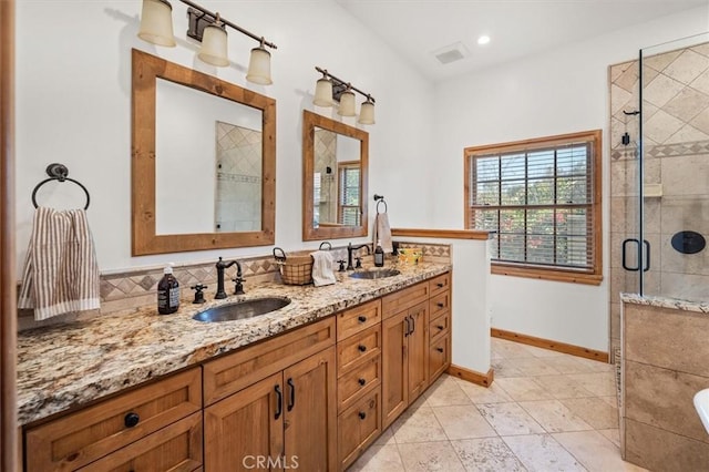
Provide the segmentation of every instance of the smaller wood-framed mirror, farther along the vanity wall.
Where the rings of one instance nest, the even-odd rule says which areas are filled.
[[[367,236],[369,133],[302,114],[302,240]]]

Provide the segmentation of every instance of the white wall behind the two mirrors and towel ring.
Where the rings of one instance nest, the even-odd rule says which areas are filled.
[[[248,52],[256,42],[236,31],[229,30],[233,63],[228,68],[217,69],[197,60],[197,44],[184,34],[186,6],[177,1],[173,2],[177,40],[173,49],[137,39],[140,0],[18,2],[18,265],[24,260],[32,225],[31,192],[45,178],[44,168],[52,162],[65,164],[70,176],[91,192],[88,214],[104,271],[270,252],[259,247],[131,257],[132,48],[276,99],[278,246],[304,246],[300,133],[302,109],[314,110],[312,93],[320,76],[315,65],[352,82],[377,100],[377,124],[367,126],[370,205],[374,193],[384,194],[392,225],[428,226],[430,204],[427,192],[421,191],[428,182],[427,168],[409,165],[429,158],[433,91],[427,80],[330,0],[202,3],[219,9],[225,18],[278,45],[271,60],[274,85],[245,81]],[[358,95],[358,102],[360,99]],[[83,205],[83,195],[76,188],[51,183],[42,188],[38,201],[54,207]]]

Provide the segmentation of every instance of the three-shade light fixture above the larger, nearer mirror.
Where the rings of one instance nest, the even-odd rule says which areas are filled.
[[[265,47],[277,49],[276,44],[222,18],[218,12],[213,13],[189,0],[179,1],[189,7],[187,35],[202,42],[197,53],[202,61],[219,68],[229,64],[226,27],[230,27],[258,41],[258,47],[251,49],[246,80],[261,85],[274,83],[270,79],[270,52]],[[167,0],[143,0],[138,38],[153,44],[174,47],[172,11],[173,7]]]

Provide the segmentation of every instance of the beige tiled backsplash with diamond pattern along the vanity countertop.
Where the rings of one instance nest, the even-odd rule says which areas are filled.
[[[401,247],[417,246],[423,249],[424,260],[440,264],[450,264],[451,249],[449,245],[421,245],[411,243],[400,243]],[[366,255],[366,250],[360,249],[356,255]],[[286,253],[287,255],[290,253]],[[347,247],[333,247],[332,260],[347,259]],[[246,279],[245,289],[248,293],[248,284],[279,280],[278,264],[273,255],[239,258],[242,265],[242,276]],[[337,267],[337,264],[336,266]],[[191,287],[197,284],[206,285],[205,293],[216,290],[217,271],[216,261],[201,264],[184,264],[175,266],[174,276],[179,281],[183,302],[192,300],[194,291]],[[120,273],[103,274],[101,276],[101,309],[82,311],[80,314],[66,314],[50,318],[43,321],[34,321],[32,310],[20,310],[18,327],[20,331],[43,326],[72,322],[76,320],[90,319],[99,315],[117,314],[122,311],[133,311],[155,305],[157,283],[163,277],[163,269],[160,267],[150,269],[134,269]],[[232,266],[225,271],[225,286],[227,293],[232,286],[232,279],[236,277],[236,266]]]

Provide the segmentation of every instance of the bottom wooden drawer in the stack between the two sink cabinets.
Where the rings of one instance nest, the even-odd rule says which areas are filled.
[[[338,418],[340,470],[347,469],[381,433],[379,389],[372,390]]]

